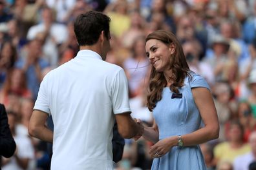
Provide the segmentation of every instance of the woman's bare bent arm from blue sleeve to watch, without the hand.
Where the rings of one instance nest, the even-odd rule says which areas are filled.
[[[219,138],[219,120],[211,92],[207,88],[192,88],[192,93],[205,126],[183,135],[184,146],[198,145]]]

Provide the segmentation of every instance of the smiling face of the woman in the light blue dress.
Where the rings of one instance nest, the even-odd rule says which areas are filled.
[[[162,72],[170,69],[172,46],[167,46],[156,39],[149,39],[145,44],[145,51],[156,71]]]

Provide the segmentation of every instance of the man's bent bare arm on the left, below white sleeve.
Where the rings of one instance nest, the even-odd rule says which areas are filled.
[[[50,129],[48,129],[47,126],[45,126],[47,118],[48,113],[35,109],[30,118],[28,133],[32,137],[36,137],[39,138],[40,140],[52,143],[53,132]]]

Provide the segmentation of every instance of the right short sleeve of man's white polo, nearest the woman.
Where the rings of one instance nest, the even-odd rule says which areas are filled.
[[[116,73],[111,86],[112,110],[114,114],[131,113],[127,77],[123,69]]]

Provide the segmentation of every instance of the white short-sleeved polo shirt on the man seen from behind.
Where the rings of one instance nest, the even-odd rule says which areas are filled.
[[[51,169],[113,169],[114,114],[131,111],[120,66],[81,50],[44,77],[34,109],[54,122]]]

